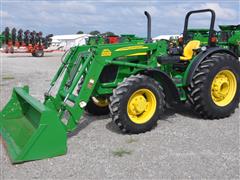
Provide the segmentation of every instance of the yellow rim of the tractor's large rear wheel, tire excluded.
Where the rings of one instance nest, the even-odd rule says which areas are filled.
[[[232,102],[237,92],[237,80],[230,70],[222,70],[214,77],[211,86],[211,96],[217,106],[227,106]]]

